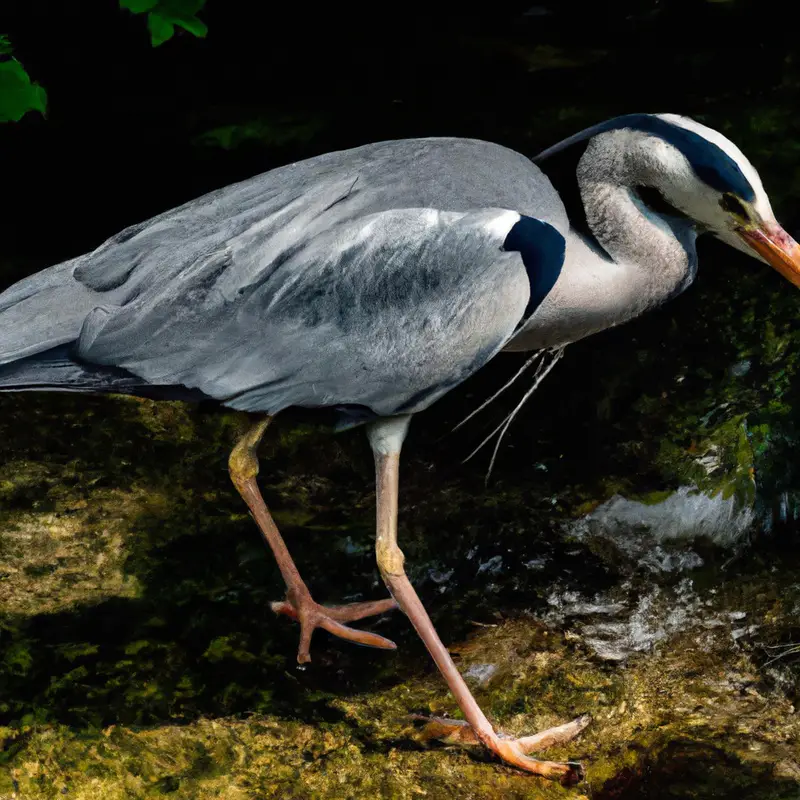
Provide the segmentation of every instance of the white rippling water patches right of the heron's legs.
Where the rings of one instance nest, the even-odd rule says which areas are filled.
[[[709,497],[693,487],[652,505],[616,495],[568,524],[565,532],[582,541],[611,544],[609,557],[618,568],[627,562],[630,577],[591,597],[554,590],[544,621],[572,628],[599,658],[615,662],[651,650],[681,631],[702,633],[725,626],[735,639],[742,635],[739,615],[714,614],[711,600],[697,593],[691,578],[669,585],[669,576],[703,565],[690,547],[694,539],[733,548],[744,540],[753,518],[752,510],[737,508],[734,498]],[[660,585],[664,581],[667,585]]]

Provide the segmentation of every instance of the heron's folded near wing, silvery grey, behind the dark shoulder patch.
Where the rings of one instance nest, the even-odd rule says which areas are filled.
[[[503,249],[519,221],[502,209],[398,209],[300,237],[257,267],[220,249],[124,306],[94,309],[77,356],[247,411],[417,411],[523,319],[532,284],[521,252]],[[539,224],[563,259],[560,234]]]

